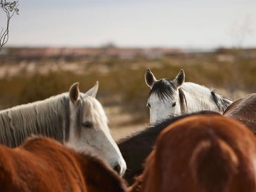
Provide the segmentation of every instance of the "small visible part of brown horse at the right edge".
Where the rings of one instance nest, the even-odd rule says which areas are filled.
[[[256,134],[256,93],[234,101],[223,115],[235,118]]]

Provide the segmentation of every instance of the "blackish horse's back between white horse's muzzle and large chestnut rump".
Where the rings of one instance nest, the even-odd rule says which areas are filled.
[[[117,142],[117,146],[127,163],[127,170],[123,177],[129,185],[133,184],[134,178],[143,172],[143,163],[153,150],[153,146],[160,132],[171,123],[196,114],[215,114],[220,116],[220,114],[214,111],[198,111],[192,114],[166,118]]]

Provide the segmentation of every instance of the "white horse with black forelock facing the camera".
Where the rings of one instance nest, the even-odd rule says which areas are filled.
[[[151,88],[147,102],[151,123],[168,116],[179,116],[203,110],[217,111],[222,114],[232,102],[203,85],[184,82],[183,69],[172,80],[167,78],[157,80],[151,70],[147,69],[145,81],[146,85]]]

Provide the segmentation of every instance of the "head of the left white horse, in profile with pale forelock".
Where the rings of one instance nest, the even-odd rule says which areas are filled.
[[[91,148],[120,174],[127,166],[117,144],[110,135],[108,119],[101,103],[96,100],[98,82],[86,93],[78,84],[70,88],[70,139],[76,149]]]

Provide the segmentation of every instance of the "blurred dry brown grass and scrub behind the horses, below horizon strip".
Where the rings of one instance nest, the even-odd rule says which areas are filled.
[[[99,81],[98,99],[108,112],[115,139],[119,139],[148,123],[146,68],[150,67],[157,78],[174,78],[182,68],[186,81],[217,88],[223,95],[237,99],[256,91],[255,55],[244,50],[217,50],[132,59],[1,56],[0,109],[68,91],[75,81],[80,82],[80,90],[84,91]]]

